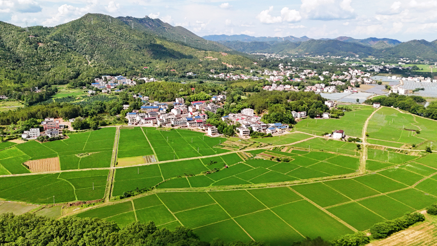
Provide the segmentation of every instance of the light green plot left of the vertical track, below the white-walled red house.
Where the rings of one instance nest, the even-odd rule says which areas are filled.
[[[293,146],[300,147],[300,148],[310,148],[310,149],[330,151],[330,152],[346,154],[350,156],[360,155],[359,151],[356,150],[357,144],[338,141],[338,140],[327,140],[324,138],[313,138],[301,143],[294,144]]]

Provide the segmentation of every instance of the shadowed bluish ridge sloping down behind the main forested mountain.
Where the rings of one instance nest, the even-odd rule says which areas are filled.
[[[154,34],[185,46],[202,50],[231,51],[228,47],[220,43],[205,40],[182,26],[172,26],[160,19],[152,19],[147,16],[145,18],[126,16],[117,17],[117,19],[134,29],[143,30],[146,33]]]

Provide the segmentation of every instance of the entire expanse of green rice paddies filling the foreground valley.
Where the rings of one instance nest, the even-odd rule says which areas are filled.
[[[43,144],[0,144],[0,175],[6,175],[0,177],[0,198],[51,204],[53,198],[55,203],[98,200],[111,191],[110,202],[77,210],[75,216],[113,221],[120,228],[154,221],[169,230],[189,227],[203,241],[219,237],[272,246],[366,231],[436,203],[437,154],[417,151],[437,141],[435,122],[383,107],[369,120],[366,151],[357,148],[362,143],[316,137],[336,129],[361,137],[374,109],[351,107],[341,119],[305,119],[298,132],[253,139],[256,146],[267,146],[247,150],[244,144],[236,151],[222,149],[217,145],[225,138],[200,132],[142,127],[121,128],[119,135],[105,128]],[[310,135],[313,130],[316,136]],[[113,149],[118,165],[111,179]],[[59,171],[30,173],[22,165],[49,158],[59,159]],[[153,189],[119,199],[145,188]],[[33,208],[16,204],[21,203],[0,202],[0,211]],[[59,207],[37,213],[56,218]]]

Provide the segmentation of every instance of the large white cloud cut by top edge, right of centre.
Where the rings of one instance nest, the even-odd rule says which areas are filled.
[[[336,20],[353,19],[355,10],[352,0],[301,0],[300,13],[307,19]]]

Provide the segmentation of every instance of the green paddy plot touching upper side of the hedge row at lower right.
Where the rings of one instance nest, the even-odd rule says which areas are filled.
[[[361,205],[373,212],[378,213],[386,220],[393,220],[403,216],[405,212],[414,211],[413,208],[404,205],[388,196],[378,196],[359,201]]]

